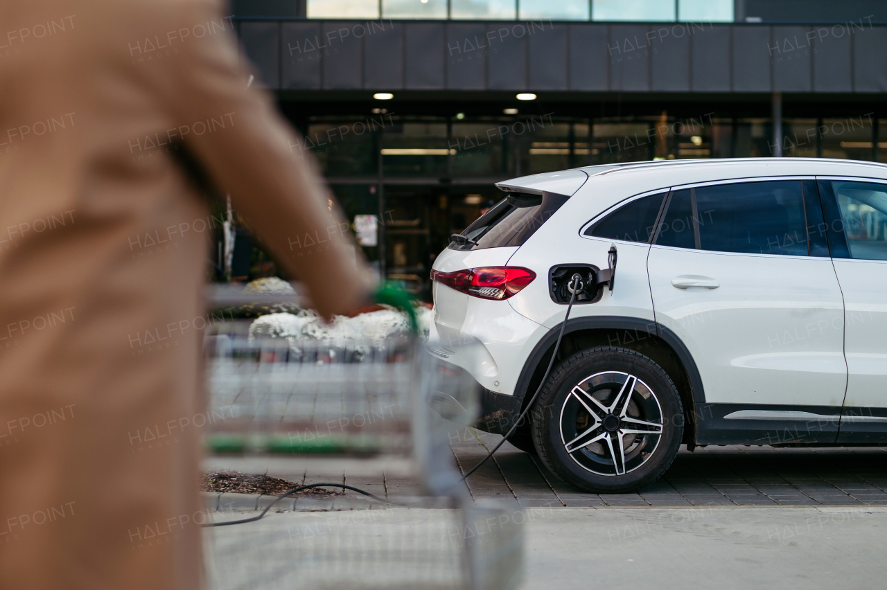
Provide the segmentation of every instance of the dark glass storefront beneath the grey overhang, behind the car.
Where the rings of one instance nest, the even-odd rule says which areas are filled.
[[[349,221],[379,220],[363,245],[380,273],[430,297],[436,254],[502,198],[494,182],[569,167],[653,159],[772,157],[767,117],[449,116],[378,113],[310,116],[302,157],[316,159]],[[879,124],[880,123],[880,124]],[[873,113],[785,118],[787,157],[878,160],[887,121]]]

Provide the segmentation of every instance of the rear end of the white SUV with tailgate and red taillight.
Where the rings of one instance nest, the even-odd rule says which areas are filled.
[[[483,386],[487,413],[503,405],[502,400],[491,403],[491,396],[514,395],[526,345],[543,330],[517,314],[508,299],[546,276],[508,261],[587,177],[581,170],[567,170],[498,183],[506,198],[454,236],[435,260],[429,351]],[[498,417],[482,416],[487,421]]]

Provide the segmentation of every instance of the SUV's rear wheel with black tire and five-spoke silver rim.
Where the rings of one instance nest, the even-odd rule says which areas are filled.
[[[539,459],[569,485],[593,493],[653,483],[671,466],[684,434],[671,377],[643,354],[613,346],[561,361],[532,416]]]

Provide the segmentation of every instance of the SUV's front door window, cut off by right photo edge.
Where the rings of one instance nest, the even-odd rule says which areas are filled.
[[[887,260],[887,185],[827,181],[841,209],[844,235],[852,258]]]

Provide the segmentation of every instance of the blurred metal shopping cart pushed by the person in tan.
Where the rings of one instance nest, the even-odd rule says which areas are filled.
[[[209,425],[211,453],[292,462],[319,456],[326,465],[384,458],[408,464],[419,490],[341,512],[300,511],[296,501],[285,515],[205,529],[210,587],[505,590],[519,583],[522,511],[476,506],[449,447],[451,433],[475,418],[477,392],[425,350],[416,330],[367,339],[334,327],[311,338],[272,338],[248,321],[217,322],[205,349],[209,414],[225,416]],[[422,508],[442,505],[449,508]]]

